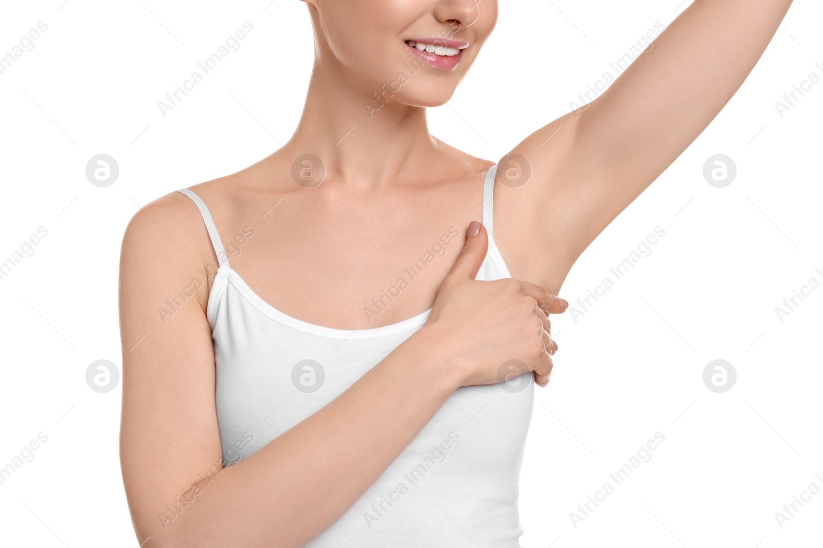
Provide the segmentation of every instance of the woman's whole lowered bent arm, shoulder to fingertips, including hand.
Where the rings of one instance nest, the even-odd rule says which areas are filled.
[[[478,233],[467,237],[423,328],[332,403],[249,457],[215,467],[221,440],[202,292],[199,306],[156,320],[157,304],[200,268],[177,246],[203,247],[181,202],[188,198],[178,196],[138,212],[123,241],[121,463],[143,546],[304,546],[356,503],[455,389],[499,382],[500,364],[513,358],[540,379],[551,372],[546,312],[562,312],[560,300],[532,283],[473,279],[488,242],[472,223],[468,233]],[[207,475],[216,479],[202,481]],[[188,504],[175,506],[186,493]],[[169,507],[181,510],[164,523],[158,516],[174,515]]]

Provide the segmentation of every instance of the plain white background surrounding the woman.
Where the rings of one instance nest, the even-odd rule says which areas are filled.
[[[63,2],[0,7],[0,55],[49,25],[0,75],[0,262],[49,231],[0,279],[0,467],[48,435],[0,485],[0,544],[137,546],[119,469],[120,387],[97,394],[85,380],[92,361],[121,365],[123,230],[148,201],[286,142],[312,35],[296,0]],[[496,161],[688,3],[500,2],[472,71],[449,106],[430,109],[431,131]],[[247,20],[239,51],[162,117],[157,102]],[[823,282],[823,83],[783,117],[774,105],[811,71],[823,76],[820,21],[819,2],[795,2],[723,112],[572,269],[560,296],[578,306],[665,230],[588,312],[553,318],[560,351],[550,387],[537,389],[523,462],[523,546],[820,546],[823,494],[783,527],[774,517],[812,482],[823,488],[823,288],[782,322],[775,313],[810,278]],[[86,180],[101,153],[120,167],[108,188]],[[704,180],[713,154],[737,164],[728,187]],[[724,394],[703,382],[714,359],[737,371]],[[615,486],[609,473],[658,431],[653,458],[574,527],[570,512]]]

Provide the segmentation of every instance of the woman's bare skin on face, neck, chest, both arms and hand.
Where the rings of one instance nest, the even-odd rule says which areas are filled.
[[[253,228],[231,267],[286,314],[365,329],[433,310],[351,389],[226,467],[164,528],[158,513],[220,463],[221,445],[205,315],[211,283],[165,322],[157,307],[215,256],[188,197],[173,192],[142,208],[123,238],[120,313],[121,463],[138,541],[150,537],[143,546],[303,546],[354,504],[454,389],[497,382],[512,357],[545,385],[556,344],[544,312],[564,310],[554,296],[574,261],[714,119],[791,4],[695,0],[600,97],[512,151],[532,170],[521,187],[495,182],[495,240],[514,280],[472,279],[486,251],[480,227],[368,317],[372,297],[431,242],[451,226],[463,242],[481,220],[483,174],[495,161],[430,136],[425,107],[451,97],[495,25],[496,2],[305,2],[316,60],[294,136],[253,166],[192,188],[224,242]],[[423,67],[368,113],[371,94],[415,58],[404,40],[444,33],[470,44],[458,67]],[[323,162],[319,186],[295,184],[301,154]]]

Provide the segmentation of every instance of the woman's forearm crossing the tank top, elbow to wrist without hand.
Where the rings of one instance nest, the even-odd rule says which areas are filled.
[[[144,546],[304,546],[351,508],[461,384],[456,364],[435,351],[439,337],[429,325],[412,334],[332,403],[226,467],[172,523],[136,523],[150,536]],[[200,481],[189,479],[184,490]]]

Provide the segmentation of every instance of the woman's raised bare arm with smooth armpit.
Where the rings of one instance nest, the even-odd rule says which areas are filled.
[[[728,103],[791,3],[695,0],[597,99],[523,140],[512,152],[528,160],[532,179],[501,191],[512,212],[502,249],[522,253],[517,234],[545,228],[571,243],[551,248],[570,268]],[[524,210],[525,219],[514,213]],[[557,244],[526,238],[520,245]]]

